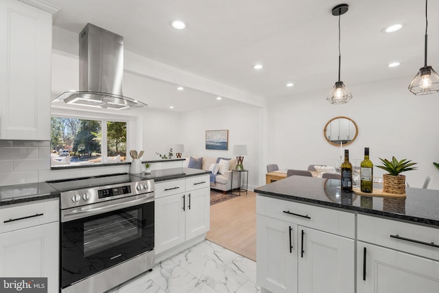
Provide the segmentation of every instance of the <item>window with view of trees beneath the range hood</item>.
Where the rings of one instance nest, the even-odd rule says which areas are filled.
[[[124,163],[129,131],[126,119],[53,115],[51,167]]]

